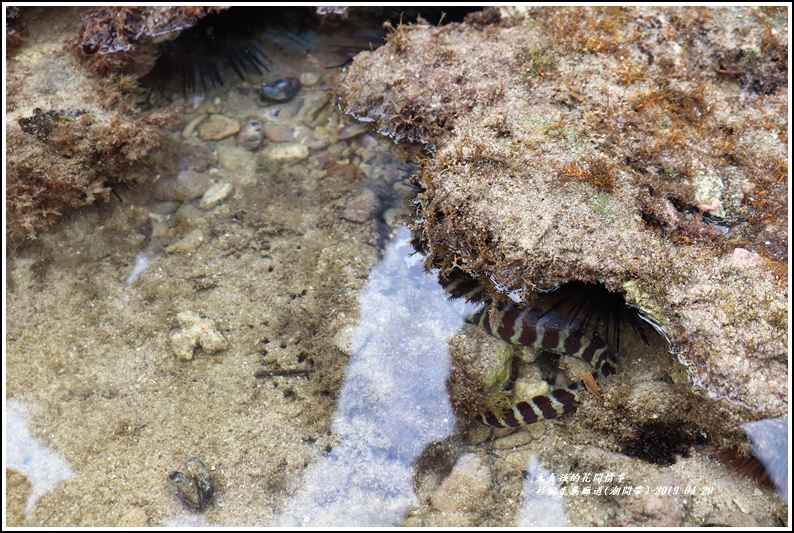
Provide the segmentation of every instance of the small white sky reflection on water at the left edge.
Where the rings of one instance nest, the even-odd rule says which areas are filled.
[[[5,433],[7,467],[23,474],[32,485],[25,505],[25,515],[30,521],[39,498],[74,474],[66,461],[30,434],[24,403],[16,400],[6,403]]]

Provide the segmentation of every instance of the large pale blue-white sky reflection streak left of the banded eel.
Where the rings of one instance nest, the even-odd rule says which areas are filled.
[[[308,471],[276,525],[400,524],[417,503],[413,461],[454,429],[447,338],[463,319],[437,283],[419,287],[409,275],[408,238],[403,228],[361,296],[333,423],[341,444]]]

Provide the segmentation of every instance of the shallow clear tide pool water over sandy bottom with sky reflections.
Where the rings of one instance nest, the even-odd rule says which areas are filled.
[[[324,39],[265,39],[271,73],[228,79],[202,97],[173,95],[178,171],[142,169],[143,185],[119,191],[123,202],[75,213],[7,251],[9,524],[786,520],[772,491],[700,448],[665,467],[619,453],[588,421],[603,415],[596,402],[493,440],[455,417],[451,346],[472,334],[431,275],[409,272],[415,257],[396,217],[412,192],[407,156],[376,134],[339,139],[345,119],[332,108],[323,126],[306,118],[333,82],[314,61],[338,63]],[[306,46],[316,46],[311,58]],[[302,106],[260,106],[257,83],[303,72],[321,81],[302,89]],[[233,137],[181,138],[181,126],[218,111],[293,128],[296,138],[256,154]],[[262,155],[301,143],[312,146],[302,160]],[[209,209],[199,197],[172,205],[162,191],[179,185],[179,171],[208,177],[205,187],[228,182],[233,193]],[[177,358],[171,338],[183,311],[211,320],[228,347]],[[653,383],[670,364],[661,337],[650,347],[622,343],[627,380]],[[202,511],[166,485],[193,457],[215,482]],[[583,476],[605,473],[628,477],[621,490],[650,495],[587,496],[610,482]]]

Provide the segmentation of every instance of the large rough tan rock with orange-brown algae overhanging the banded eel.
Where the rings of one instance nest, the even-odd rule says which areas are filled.
[[[783,8],[489,9],[398,26],[338,102],[431,153],[430,260],[525,296],[625,292],[695,390],[783,416],[787,25]]]

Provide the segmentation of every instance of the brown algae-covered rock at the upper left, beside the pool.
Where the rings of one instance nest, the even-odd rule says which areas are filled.
[[[8,227],[35,236],[66,209],[110,198],[160,145],[169,112],[143,116],[125,101],[129,80],[98,80],[68,51],[79,10],[30,9],[32,23],[54,20],[53,34],[29,35],[9,62],[6,104]]]

